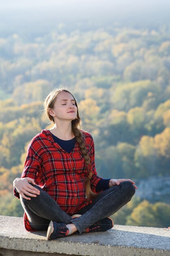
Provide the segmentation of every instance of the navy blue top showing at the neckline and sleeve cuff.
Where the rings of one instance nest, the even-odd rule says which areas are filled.
[[[52,133],[51,133],[52,134]],[[72,149],[74,148],[76,144],[76,139],[69,139],[69,140],[63,140],[59,139],[55,135],[52,134],[52,138],[54,141],[61,146],[66,152],[70,153]],[[109,180],[110,179],[102,179],[99,180],[98,184],[96,185],[96,192],[104,191],[106,189],[109,189]]]

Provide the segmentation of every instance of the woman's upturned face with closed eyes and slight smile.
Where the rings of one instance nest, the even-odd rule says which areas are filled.
[[[54,103],[54,107],[49,111],[50,115],[57,120],[74,120],[77,116],[75,100],[69,92],[60,92]]]

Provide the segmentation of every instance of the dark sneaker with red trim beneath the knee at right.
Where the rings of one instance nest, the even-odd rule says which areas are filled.
[[[80,217],[80,214],[74,214],[72,218],[78,218]],[[90,232],[103,232],[111,229],[114,226],[114,222],[110,217],[107,217],[105,219],[99,220],[98,222],[94,223],[90,227],[87,227],[83,232],[90,233]]]

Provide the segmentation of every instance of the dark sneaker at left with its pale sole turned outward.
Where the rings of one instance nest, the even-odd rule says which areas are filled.
[[[68,228],[64,223],[57,223],[51,220],[47,230],[47,239],[65,237],[68,232]]]

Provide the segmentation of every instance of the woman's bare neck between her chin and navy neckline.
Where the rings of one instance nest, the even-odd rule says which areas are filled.
[[[54,126],[50,129],[50,132],[57,136],[59,139],[63,140],[69,140],[74,138],[71,122],[62,122],[54,124]]]

